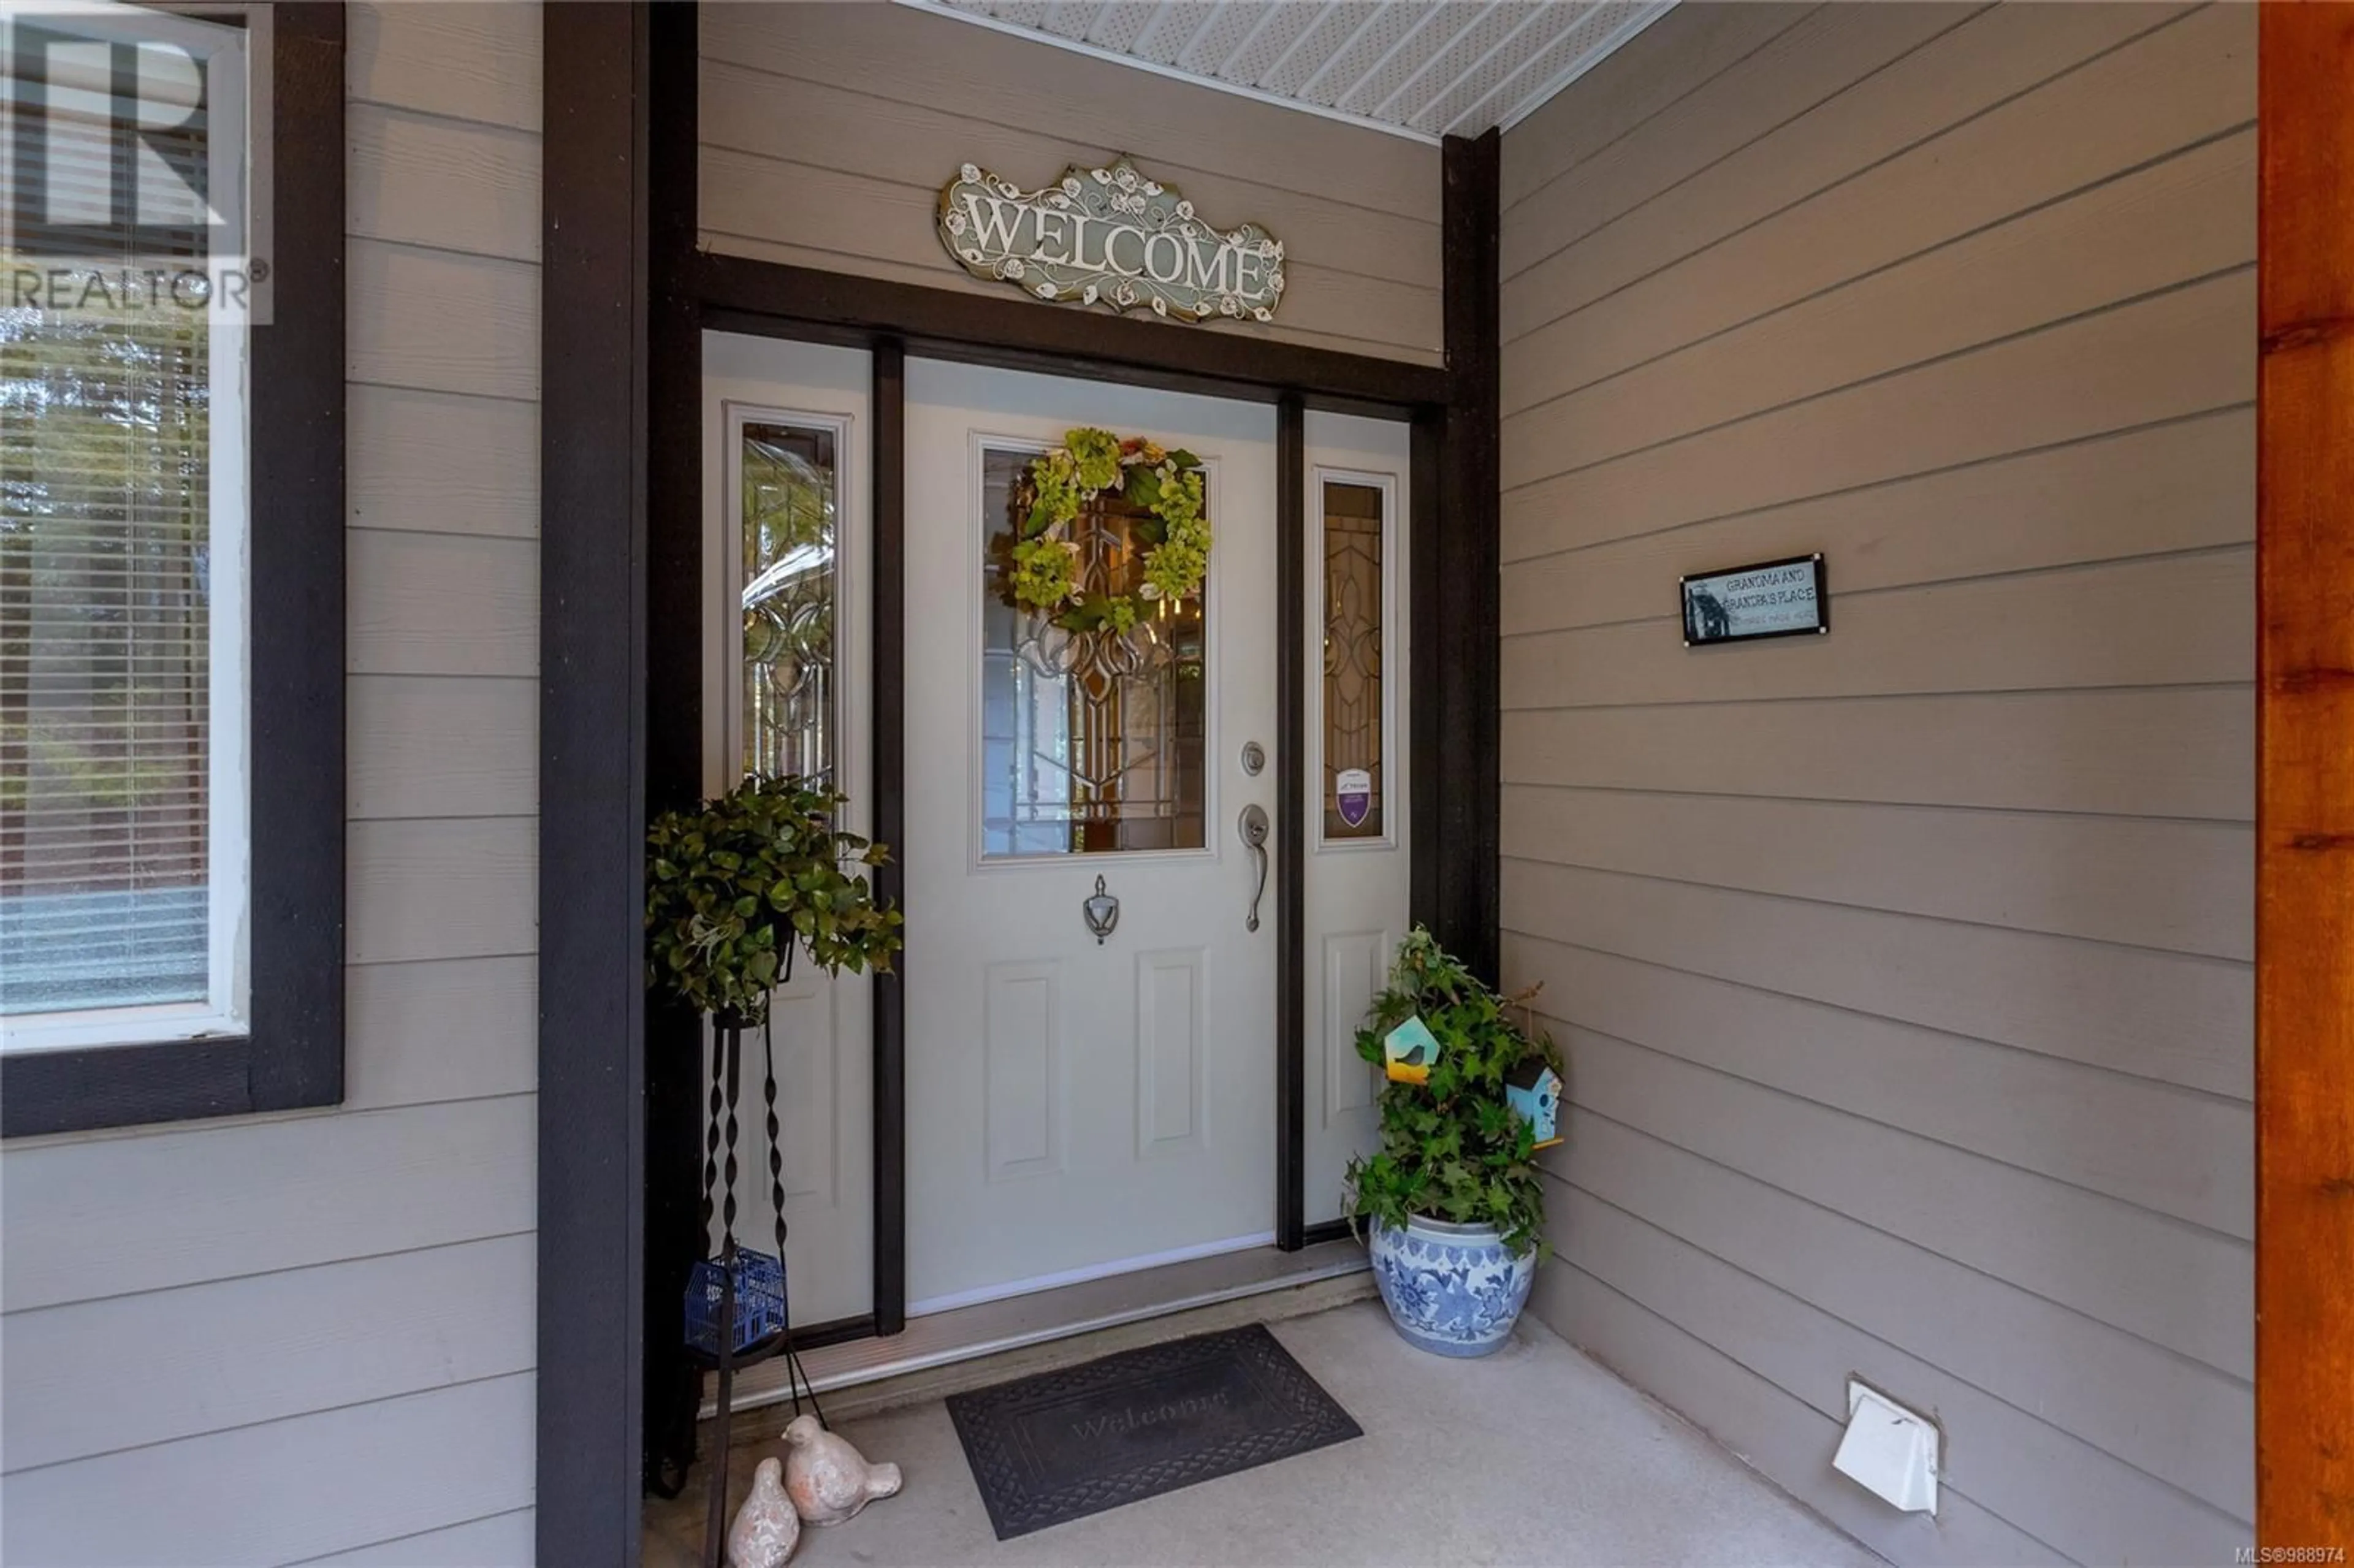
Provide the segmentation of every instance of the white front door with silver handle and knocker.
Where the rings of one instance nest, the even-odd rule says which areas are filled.
[[[1125,638],[989,565],[1073,426],[1208,466],[1205,591]],[[911,1314],[1274,1238],[1276,890],[1238,833],[1276,815],[1274,440],[1266,405],[906,365]],[[1097,523],[1090,570],[1130,570]]]

